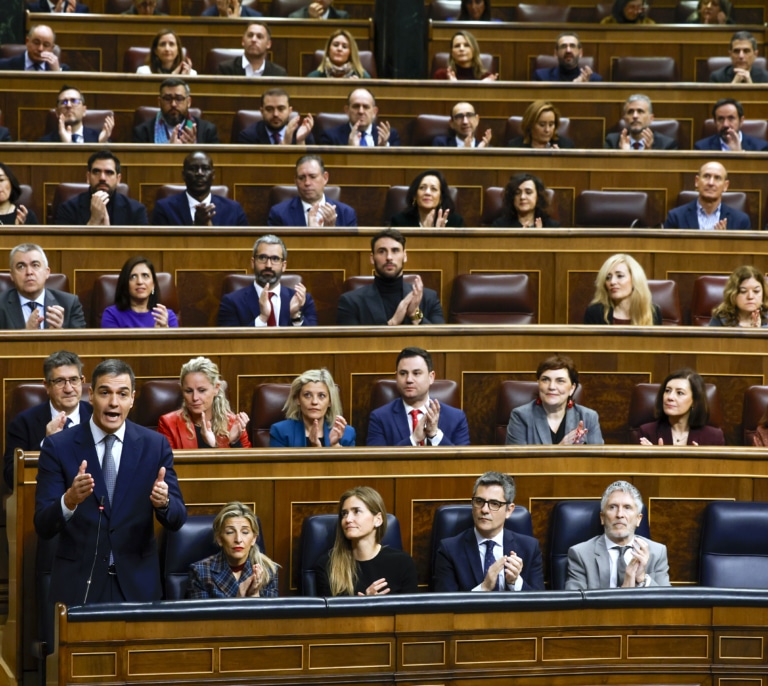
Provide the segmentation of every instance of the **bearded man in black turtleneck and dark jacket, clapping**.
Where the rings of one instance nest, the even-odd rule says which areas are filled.
[[[421,277],[403,279],[408,261],[405,236],[384,229],[371,239],[373,283],[344,293],[339,298],[336,323],[345,326],[445,324],[437,293],[424,288]]]

